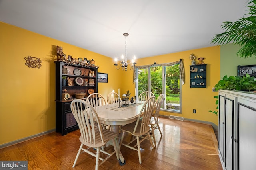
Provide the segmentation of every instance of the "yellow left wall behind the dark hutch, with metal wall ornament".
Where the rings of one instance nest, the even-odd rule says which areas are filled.
[[[92,51],[0,22],[1,88],[0,145],[55,128],[56,46],[72,57],[94,59],[98,72],[108,73],[108,83],[98,83],[105,97],[118,92],[121,72],[114,61]],[[28,68],[24,57],[42,60],[42,67]],[[110,64],[108,64],[110,63]]]

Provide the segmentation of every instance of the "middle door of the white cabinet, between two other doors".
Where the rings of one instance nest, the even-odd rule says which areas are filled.
[[[234,155],[234,102],[235,97],[226,95],[226,124],[225,124],[225,166],[226,170],[233,170],[233,155]]]

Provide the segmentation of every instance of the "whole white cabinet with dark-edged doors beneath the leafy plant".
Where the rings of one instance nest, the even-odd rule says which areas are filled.
[[[218,149],[226,170],[256,169],[256,93],[219,91]]]

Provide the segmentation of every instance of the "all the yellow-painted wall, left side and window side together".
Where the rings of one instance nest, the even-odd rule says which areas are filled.
[[[0,88],[0,145],[55,129],[55,63],[56,46],[72,57],[94,59],[98,72],[108,73],[108,83],[98,83],[98,92],[107,97],[111,91],[124,94],[130,90],[134,96],[133,72],[116,70],[110,57],[88,51],[0,22],[1,88]],[[207,88],[190,88],[188,56],[194,53],[205,57],[208,64]],[[24,57],[42,60],[42,67],[28,68]],[[185,84],[182,86],[182,114],[188,119],[210,121],[218,125],[218,117],[208,110],[216,108],[212,87],[220,79],[220,48],[208,47],[137,60],[137,65],[169,63],[183,59]],[[192,109],[197,113],[193,114]],[[162,113],[168,114],[168,113]]]

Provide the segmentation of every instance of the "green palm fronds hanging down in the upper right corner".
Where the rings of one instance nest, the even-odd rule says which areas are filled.
[[[250,0],[247,4],[248,14],[239,18],[236,22],[223,22],[221,25],[224,33],[216,34],[211,43],[224,45],[234,43],[240,45],[237,55],[241,58],[256,57],[256,0]]]

